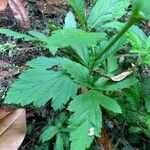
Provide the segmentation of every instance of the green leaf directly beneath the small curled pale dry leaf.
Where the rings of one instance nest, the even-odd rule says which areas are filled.
[[[135,85],[138,82],[138,80],[134,77],[130,77],[127,79],[124,79],[120,82],[113,82],[111,80],[108,80],[104,77],[99,78],[97,82],[95,83],[95,88],[100,90],[109,90],[109,91],[119,91],[125,88],[129,88],[132,85]]]

